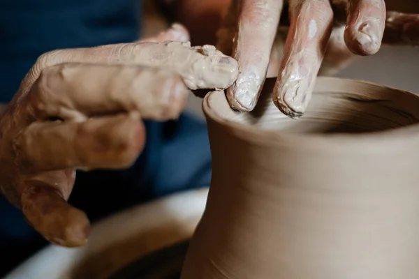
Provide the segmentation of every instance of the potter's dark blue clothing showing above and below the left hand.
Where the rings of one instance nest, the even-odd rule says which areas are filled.
[[[38,56],[50,50],[128,43],[140,36],[140,0],[0,0],[0,103],[8,102]],[[133,167],[79,172],[71,204],[91,220],[179,190],[208,186],[204,123],[146,121],[147,144]],[[45,241],[0,195],[0,277]]]

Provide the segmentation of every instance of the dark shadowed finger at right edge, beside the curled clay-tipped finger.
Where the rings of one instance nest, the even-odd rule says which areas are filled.
[[[383,43],[418,46],[419,15],[388,12]]]

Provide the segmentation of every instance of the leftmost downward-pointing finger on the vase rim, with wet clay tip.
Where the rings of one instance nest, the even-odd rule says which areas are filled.
[[[283,1],[243,0],[233,46],[240,74],[227,97],[235,110],[251,111],[256,105],[269,64],[272,43]]]

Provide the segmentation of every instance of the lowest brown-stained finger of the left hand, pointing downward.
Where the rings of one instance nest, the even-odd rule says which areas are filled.
[[[61,182],[61,178],[56,179]],[[67,204],[58,183],[50,186],[37,179],[25,182],[21,204],[27,222],[48,241],[68,247],[87,242],[89,219],[85,213]]]

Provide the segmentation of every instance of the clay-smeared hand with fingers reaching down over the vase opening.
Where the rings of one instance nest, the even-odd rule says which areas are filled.
[[[347,49],[358,55],[376,53],[385,27],[384,1],[335,2],[348,5],[346,28],[341,29]],[[239,62],[240,75],[227,90],[227,96],[236,110],[250,111],[256,105],[267,75],[282,6],[281,0],[233,0],[230,6],[226,29],[220,36],[234,37],[232,55]],[[289,17],[291,24],[273,99],[279,110],[298,117],[309,103],[334,17],[328,0],[290,0]]]

